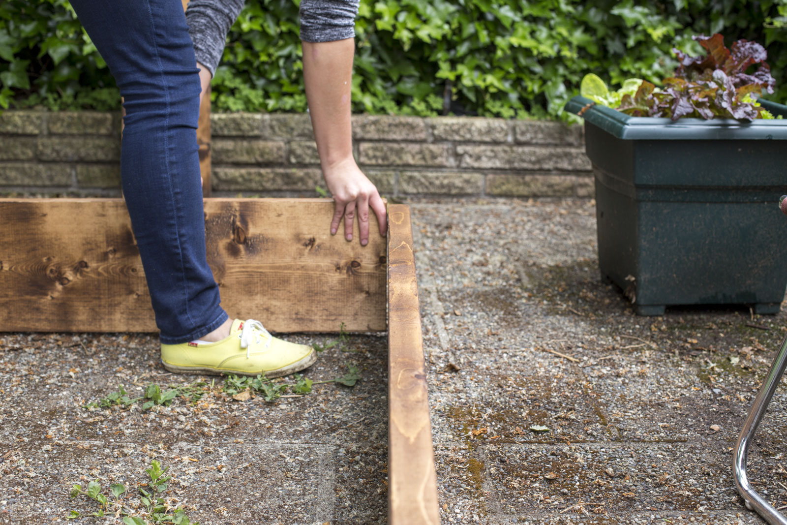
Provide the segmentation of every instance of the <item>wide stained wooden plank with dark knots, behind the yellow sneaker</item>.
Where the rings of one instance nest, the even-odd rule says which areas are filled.
[[[385,239],[331,235],[333,210],[330,199],[207,199],[227,313],[272,331],[384,331]],[[156,331],[121,199],[0,199],[0,224],[0,331]]]

